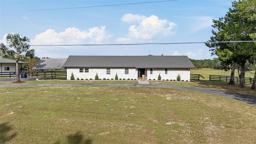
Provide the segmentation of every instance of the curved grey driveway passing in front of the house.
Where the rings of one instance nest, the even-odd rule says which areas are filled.
[[[2,80],[1,80],[2,81]],[[135,86],[135,87],[150,87],[150,88],[174,88],[180,90],[192,90],[197,92],[203,92],[208,94],[214,94],[218,96],[224,96],[227,98],[233,98],[246,102],[256,107],[256,96],[250,96],[247,94],[236,94],[232,92],[210,90],[205,88],[195,88],[188,86],[173,86],[173,85],[153,85],[153,84],[19,84],[19,85],[0,85],[0,87],[25,87],[25,86]]]

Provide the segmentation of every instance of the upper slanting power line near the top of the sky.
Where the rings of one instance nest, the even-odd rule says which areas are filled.
[[[137,2],[137,3],[128,3],[128,4],[110,4],[102,6],[84,6],[84,7],[75,7],[75,8],[52,8],[52,9],[42,9],[42,10],[24,10],[24,11],[14,11],[14,12],[34,12],[34,11],[46,11],[46,10],[67,10],[67,9],[77,9],[77,8],[96,8],[96,7],[106,7],[106,6],[123,6],[123,5],[132,5],[132,4],[147,4],[147,3],[156,3],[156,2],[170,2],[176,0],[162,0],[154,2]]]

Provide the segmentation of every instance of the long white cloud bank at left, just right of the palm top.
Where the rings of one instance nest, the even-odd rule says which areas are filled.
[[[111,37],[105,31],[105,26],[90,28],[88,32],[74,27],[60,33],[48,29],[36,35],[35,39],[31,40],[31,44],[99,44]]]

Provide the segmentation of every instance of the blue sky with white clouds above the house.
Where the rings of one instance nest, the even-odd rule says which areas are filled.
[[[232,0],[155,1],[159,0],[0,0],[0,40],[6,44],[8,33],[19,33],[30,38],[30,45],[206,42],[212,36],[212,20],[232,7]],[[155,3],[104,6],[142,2]],[[101,7],[77,8],[90,6]],[[72,9],[45,10],[58,8]],[[39,58],[149,54],[214,58],[204,44],[31,48]]]

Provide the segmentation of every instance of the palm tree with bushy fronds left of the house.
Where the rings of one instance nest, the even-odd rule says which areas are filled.
[[[20,82],[19,77],[19,60],[23,60],[25,57],[33,58],[35,55],[34,49],[29,49],[28,42],[30,39],[20,34],[8,34],[6,36],[6,42],[9,44],[6,47],[3,43],[0,44],[0,58],[6,56],[14,56],[16,60],[16,78],[17,82]]]

